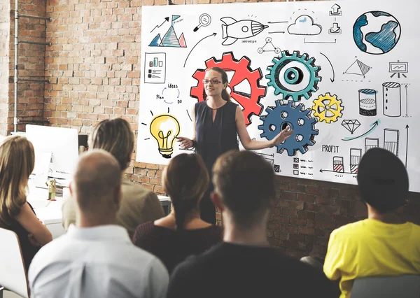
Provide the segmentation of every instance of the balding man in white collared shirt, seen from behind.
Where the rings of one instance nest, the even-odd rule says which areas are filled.
[[[80,157],[70,191],[76,226],[39,250],[29,267],[32,298],[163,298],[169,276],[117,225],[121,173],[104,150]]]

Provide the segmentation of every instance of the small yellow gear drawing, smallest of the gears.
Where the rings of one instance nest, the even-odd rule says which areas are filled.
[[[313,116],[318,118],[319,122],[330,123],[336,122],[337,118],[342,117],[344,106],[342,106],[342,100],[337,99],[337,95],[331,96],[330,93],[325,93],[314,100],[312,110],[314,111]]]

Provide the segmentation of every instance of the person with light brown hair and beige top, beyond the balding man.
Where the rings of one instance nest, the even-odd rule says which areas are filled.
[[[121,175],[130,164],[133,148],[134,134],[130,124],[121,118],[104,120],[95,127],[89,140],[89,148],[103,149],[110,152],[120,164]],[[123,177],[123,197],[121,199],[120,211],[117,213],[118,225],[125,227],[130,234],[143,222],[157,220],[165,216],[158,196],[146,190],[140,185],[132,184]],[[69,228],[71,223],[76,222],[76,202],[69,197],[62,206],[63,226]]]

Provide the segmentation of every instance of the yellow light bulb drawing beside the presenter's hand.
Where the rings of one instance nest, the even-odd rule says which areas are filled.
[[[158,115],[151,122],[151,134],[158,141],[159,153],[162,157],[171,158],[174,152],[174,141],[181,128],[172,115]]]

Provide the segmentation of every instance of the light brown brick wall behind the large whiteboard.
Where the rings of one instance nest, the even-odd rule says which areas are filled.
[[[235,0],[211,0],[222,2]],[[52,22],[47,23],[46,41],[52,45],[42,54],[45,76],[51,80],[45,84],[44,119],[90,133],[100,120],[123,117],[137,134],[141,6],[166,4],[167,0],[47,0]],[[137,163],[134,157],[135,153],[127,177],[162,194],[162,166]],[[278,199],[267,237],[288,255],[325,255],[332,229],[366,216],[354,185],[279,176],[276,181]],[[420,223],[420,195],[410,196],[410,205],[401,212]]]

